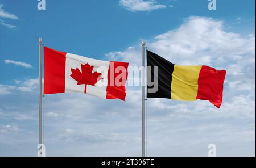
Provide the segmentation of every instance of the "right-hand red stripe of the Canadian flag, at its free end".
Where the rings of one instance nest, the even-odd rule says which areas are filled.
[[[125,100],[126,92],[125,92],[125,83],[128,76],[128,65],[129,63],[126,62],[109,62],[109,71],[108,71],[108,86],[106,88],[107,95],[106,99],[121,99]],[[122,67],[122,69],[125,69],[126,72],[118,72],[118,67]],[[125,73],[125,74],[124,74]],[[120,77],[120,75],[125,75],[125,80],[118,80],[117,77]],[[121,82],[121,86],[118,86],[118,83],[116,81]]]

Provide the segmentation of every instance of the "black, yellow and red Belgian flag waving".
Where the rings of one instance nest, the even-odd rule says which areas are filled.
[[[147,86],[147,98],[209,100],[214,106],[220,108],[225,70],[216,70],[205,65],[175,65],[148,50],[147,66],[151,66],[151,72],[147,72],[148,75],[151,73],[151,82],[156,78],[153,67],[158,66],[158,90],[151,93],[148,89],[153,86]]]

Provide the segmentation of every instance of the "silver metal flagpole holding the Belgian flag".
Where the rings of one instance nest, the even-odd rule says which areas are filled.
[[[142,157],[146,156],[146,133],[145,133],[145,45],[142,41]]]

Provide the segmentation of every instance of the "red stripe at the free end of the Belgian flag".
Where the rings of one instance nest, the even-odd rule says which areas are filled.
[[[216,70],[203,65],[199,73],[196,98],[209,100],[214,106],[220,108],[225,76],[225,70]]]

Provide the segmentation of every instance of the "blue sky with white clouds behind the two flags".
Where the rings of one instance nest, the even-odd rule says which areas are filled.
[[[147,156],[255,156],[255,1],[0,0],[0,156],[36,156],[38,37],[47,47],[141,66],[141,41],[179,65],[227,71],[220,109],[147,100]],[[132,76],[129,76],[132,78]],[[141,87],[126,102],[43,98],[47,156],[141,156]]]

